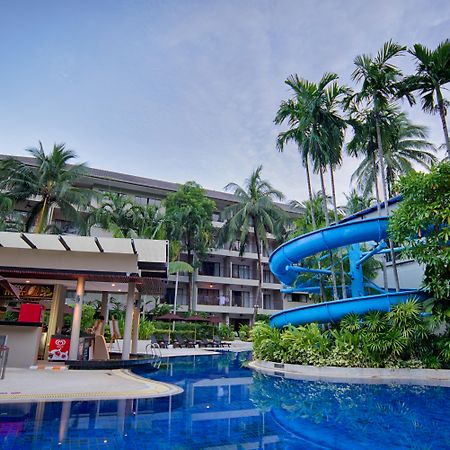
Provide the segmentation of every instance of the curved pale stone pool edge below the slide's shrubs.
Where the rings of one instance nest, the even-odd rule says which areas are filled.
[[[308,381],[360,384],[417,384],[450,387],[450,370],[443,369],[317,367],[256,360],[251,361],[249,367],[266,375]]]

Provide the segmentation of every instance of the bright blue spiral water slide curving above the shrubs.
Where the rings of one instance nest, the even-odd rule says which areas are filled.
[[[388,220],[387,217],[379,217],[343,223],[296,237],[278,247],[270,255],[270,270],[286,287],[294,288],[298,274],[302,270],[298,264],[304,258],[361,242],[380,242],[387,238]],[[270,324],[273,327],[281,328],[288,324],[335,323],[350,313],[365,314],[374,310],[389,311],[391,306],[403,303],[411,297],[424,299],[425,294],[415,290],[387,292],[380,295],[301,306],[274,314],[270,318]]]

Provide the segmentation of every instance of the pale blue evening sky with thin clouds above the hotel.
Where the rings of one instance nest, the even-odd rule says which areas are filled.
[[[302,201],[297,149],[275,147],[286,78],[354,87],[356,55],[389,39],[433,48],[449,30],[448,0],[0,0],[0,153],[64,142],[91,167],[215,190],[262,164]],[[442,144],[438,116],[403,107]],[[336,175],[341,204],[357,164]]]

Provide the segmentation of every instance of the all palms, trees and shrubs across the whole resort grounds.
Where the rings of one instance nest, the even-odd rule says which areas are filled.
[[[416,65],[413,74],[404,74],[396,65],[406,57]],[[99,227],[114,237],[169,239],[169,271],[177,280],[178,274],[187,274],[189,310],[194,309],[195,269],[208,251],[237,241],[242,256],[252,244],[258,267],[254,303],[262,305],[263,256],[270,251],[269,236],[281,243],[369,206],[376,206],[381,215],[383,204],[401,194],[403,201],[392,215],[389,239],[394,287],[400,288],[399,255],[394,248],[402,245],[400,257],[425,265],[424,287],[430,300],[423,305],[412,301],[387,314],[348,317],[332,328],[308,325],[277,331],[260,323],[252,332],[255,356],[308,364],[446,367],[450,356],[449,163],[439,162],[427,128],[413,123],[402,106],[420,101],[426,113],[437,114],[444,134],[441,147],[449,159],[444,92],[450,82],[450,41],[435,49],[420,44],[408,49],[386,42],[374,56],[356,56],[352,79],[352,87],[342,85],[334,73],[325,73],[317,83],[298,74],[286,79],[290,97],[280,102],[275,114],[275,124],[285,127],[276,149],[297,147],[306,171],[308,199],[303,202],[287,203],[258,166],[243,185],[232,182],[225,187],[236,202],[222,211],[223,226],[217,233],[212,224],[217,206],[197,183],[181,185],[160,205],[142,205],[126,193],[83,188],[80,180],[88,168],[76,161],[76,153],[64,144],[46,153],[39,143],[28,150],[32,164],[20,158],[0,161],[1,230],[64,233],[70,224],[70,232],[84,235]],[[344,157],[357,158],[359,165],[345,194],[346,204],[338,205],[335,173]],[[312,183],[316,176],[317,192]],[[413,240],[416,236],[420,239]],[[312,294],[314,301],[347,297],[345,249],[303,263],[330,271],[330,275],[302,275],[302,283],[316,282],[320,287]],[[368,278],[381,270],[387,286],[386,258],[369,260],[363,270]],[[156,302],[154,308],[160,307]],[[256,315],[257,308],[254,322]],[[142,335],[155,333],[158,327],[142,321]]]

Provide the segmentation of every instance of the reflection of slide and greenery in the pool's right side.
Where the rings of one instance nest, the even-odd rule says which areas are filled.
[[[255,374],[250,394],[275,422],[327,448],[450,448],[450,389],[288,380]]]

